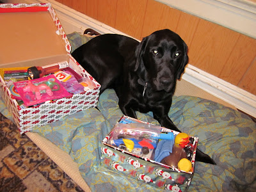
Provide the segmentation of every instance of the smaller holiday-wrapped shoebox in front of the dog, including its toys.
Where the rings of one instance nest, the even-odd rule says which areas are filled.
[[[102,141],[102,166],[134,182],[187,191],[198,138],[122,116]]]

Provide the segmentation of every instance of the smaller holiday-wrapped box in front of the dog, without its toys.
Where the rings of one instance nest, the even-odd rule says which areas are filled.
[[[116,133],[116,127],[118,127],[119,130],[120,127],[122,127],[120,124],[124,124],[124,127],[127,127],[127,124],[134,124],[131,126],[135,126],[136,129],[137,127],[140,127],[140,124],[152,125],[129,116],[122,116],[118,124],[113,127],[108,136],[106,136],[102,141],[101,159],[103,166],[120,174],[124,174],[127,177],[133,178],[134,182],[145,182],[154,188],[167,189],[170,191],[188,191],[195,169],[195,156],[198,138],[189,136],[189,138],[193,140],[191,143],[190,157],[192,168],[190,171],[185,172],[179,170],[179,168],[175,168],[174,166],[158,163],[148,157],[138,156],[133,153],[133,150],[132,152],[124,150],[124,146],[120,145],[123,147],[121,148],[120,146],[111,145],[111,142],[109,141],[113,138],[114,132]],[[129,126],[130,125],[128,125],[128,127]],[[154,126],[154,129],[150,129],[150,131],[159,129],[161,132],[173,132],[174,135],[179,134],[177,131],[172,131],[164,127],[158,127],[156,125],[152,126]],[[143,125],[143,129],[145,129],[145,127],[148,126]],[[120,132],[119,130],[117,132]],[[145,131],[148,132],[148,130]],[[134,132],[132,133],[132,131],[129,133],[130,137],[131,135],[134,135]],[[124,137],[122,136],[122,138]]]

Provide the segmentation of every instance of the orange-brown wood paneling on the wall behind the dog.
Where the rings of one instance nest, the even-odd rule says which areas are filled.
[[[154,0],[57,0],[134,38],[178,33],[189,63],[256,95],[256,40]]]

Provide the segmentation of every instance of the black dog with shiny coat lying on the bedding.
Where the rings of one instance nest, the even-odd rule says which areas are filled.
[[[141,43],[122,35],[100,35],[77,48],[72,56],[101,84],[100,93],[115,89],[125,115],[136,118],[135,111],[152,111],[163,127],[179,131],[168,111],[176,81],[188,63],[187,52],[182,38],[164,29]],[[215,164],[200,150],[196,161]]]

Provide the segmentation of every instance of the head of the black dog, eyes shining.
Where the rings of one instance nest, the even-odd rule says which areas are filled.
[[[135,51],[135,71],[157,90],[171,92],[188,63],[188,46],[179,35],[163,29],[143,38]]]

